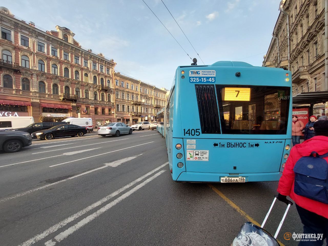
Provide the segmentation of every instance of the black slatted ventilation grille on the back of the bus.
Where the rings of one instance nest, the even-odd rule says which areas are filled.
[[[195,85],[202,133],[220,133],[214,85]]]

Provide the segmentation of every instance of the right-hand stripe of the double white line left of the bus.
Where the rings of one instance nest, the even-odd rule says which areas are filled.
[[[120,201],[122,201],[123,199],[125,199],[126,197],[128,197],[129,195],[133,194],[134,192],[136,192],[137,190],[139,190],[141,187],[143,187],[144,185],[148,184],[150,181],[152,181],[153,179],[155,179],[156,177],[158,177],[159,175],[161,175],[164,172],[165,172],[165,170],[161,170],[157,174],[154,174],[153,176],[149,177],[148,179],[146,179],[142,183],[138,184],[136,187],[134,187],[130,191],[124,193],[121,196],[119,196],[118,198],[116,198],[112,202],[108,203],[107,205],[105,205],[104,207],[102,207],[101,209],[99,209],[98,211],[96,211],[93,214],[91,214],[91,215],[87,216],[86,218],[82,219],[81,221],[79,221],[75,225],[71,226],[67,230],[61,232],[60,234],[58,234],[57,236],[55,236],[53,239],[47,241],[45,243],[45,245],[46,246],[50,246],[50,245],[53,246],[53,245],[56,244],[56,242],[62,241],[63,239],[65,239],[66,237],[70,236],[75,231],[77,231],[81,227],[85,226],[90,221],[94,220],[99,215],[103,214],[104,212],[106,212],[107,210],[109,210],[110,208],[112,208],[113,206],[115,206],[117,203],[119,203]]]

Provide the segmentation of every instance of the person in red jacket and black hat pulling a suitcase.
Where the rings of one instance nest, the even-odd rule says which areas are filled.
[[[304,225],[304,234],[323,234],[322,240],[300,241],[299,246],[321,246],[323,240],[328,238],[328,204],[297,195],[294,192],[295,173],[293,169],[298,159],[303,156],[310,156],[313,151],[319,155],[328,153],[328,121],[315,122],[314,129],[316,134],[314,137],[295,145],[291,149],[277,189],[278,200],[288,204],[286,199],[288,195],[295,201],[297,212]],[[328,157],[324,159],[328,162]]]

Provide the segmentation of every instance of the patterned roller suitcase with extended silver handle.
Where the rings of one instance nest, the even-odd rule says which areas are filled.
[[[277,228],[275,236],[272,236],[269,232],[267,232],[265,229],[263,229],[265,222],[267,221],[270,212],[273,208],[273,205],[275,204],[277,200],[277,195],[275,195],[275,199],[273,199],[273,202],[271,204],[271,207],[265,216],[263,223],[261,227],[254,225],[251,222],[246,222],[243,224],[240,228],[240,232],[235,237],[233,243],[231,246],[280,246],[280,244],[277,242],[277,236],[280,231],[280,228],[285,220],[285,217],[287,215],[287,212],[293,203],[291,201],[288,201],[288,206],[285,211],[285,214],[283,215],[279,226]]]

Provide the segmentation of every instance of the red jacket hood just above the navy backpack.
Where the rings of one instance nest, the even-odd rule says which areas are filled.
[[[296,148],[302,156],[309,156],[312,151],[316,151],[319,155],[326,154],[328,153],[328,137],[314,136],[302,144],[295,145],[293,148]]]

